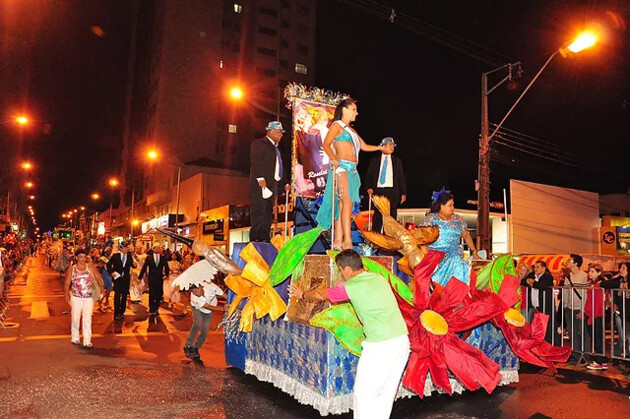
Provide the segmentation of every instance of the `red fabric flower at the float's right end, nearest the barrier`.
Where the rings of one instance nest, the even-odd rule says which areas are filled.
[[[545,331],[549,316],[536,312],[532,323],[527,323],[523,315],[511,308],[520,296],[518,278],[506,275],[499,288],[503,312],[491,319],[492,324],[500,328],[516,356],[525,362],[556,371],[554,362],[565,362],[571,355],[570,347],[552,346],[545,341]],[[472,301],[484,298],[488,291],[471,290]]]

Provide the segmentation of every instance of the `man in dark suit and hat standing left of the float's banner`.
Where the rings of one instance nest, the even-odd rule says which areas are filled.
[[[278,143],[284,129],[278,121],[267,125],[265,138],[255,140],[250,150],[249,191],[252,198],[252,228],[249,240],[269,242],[273,204],[280,191],[283,177],[282,157]]]

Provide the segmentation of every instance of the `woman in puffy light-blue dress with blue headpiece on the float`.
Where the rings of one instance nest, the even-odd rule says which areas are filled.
[[[431,210],[422,224],[439,227],[440,236],[429,249],[445,253],[431,279],[442,286],[452,277],[466,284],[470,283],[470,259],[464,260],[464,251],[459,245],[461,239],[466,241],[473,255],[477,254],[477,250],[466,222],[455,214],[455,199],[450,191],[442,189],[433,193]]]

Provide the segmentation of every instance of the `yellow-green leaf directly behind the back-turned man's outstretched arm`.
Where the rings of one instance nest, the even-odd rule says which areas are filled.
[[[313,316],[309,324],[328,330],[348,352],[361,355],[361,342],[365,334],[352,304],[333,304]]]

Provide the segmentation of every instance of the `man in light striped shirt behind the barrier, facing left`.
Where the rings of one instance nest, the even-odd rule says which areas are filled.
[[[580,255],[571,254],[565,262],[565,267],[569,271],[565,276],[565,283],[562,290],[562,306],[564,308],[564,322],[569,329],[569,339],[573,348],[573,358],[580,358],[579,352],[587,352],[590,348],[590,341],[587,335],[582,334],[582,311],[586,302],[586,294],[579,287],[588,287],[588,277],[586,272],[580,268],[584,259]],[[569,288],[570,287],[570,288]]]

